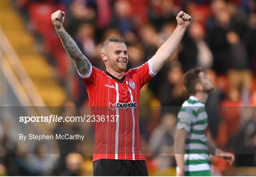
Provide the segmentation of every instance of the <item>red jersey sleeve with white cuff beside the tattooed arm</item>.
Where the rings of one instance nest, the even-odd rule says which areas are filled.
[[[96,85],[96,79],[100,76],[101,74],[101,71],[96,68],[96,67],[93,67],[92,65],[90,66],[90,71],[88,73],[87,76],[83,76],[81,75],[78,70],[77,70],[77,73],[78,75],[82,78],[82,81],[83,83],[85,84],[87,90],[90,92],[90,91],[93,91],[94,90],[94,87]]]

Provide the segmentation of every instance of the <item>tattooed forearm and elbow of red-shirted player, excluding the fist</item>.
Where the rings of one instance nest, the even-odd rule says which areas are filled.
[[[89,59],[82,54],[72,37],[65,30],[57,33],[60,36],[64,49],[73,59],[78,72],[82,76],[87,76],[91,66]]]

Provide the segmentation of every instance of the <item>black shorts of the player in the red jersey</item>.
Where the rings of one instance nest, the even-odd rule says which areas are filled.
[[[93,176],[148,176],[145,160],[101,159],[93,162]]]

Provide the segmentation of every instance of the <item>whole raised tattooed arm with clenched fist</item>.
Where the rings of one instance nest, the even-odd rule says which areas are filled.
[[[52,14],[52,22],[57,34],[59,35],[64,49],[73,59],[74,65],[82,76],[87,76],[90,71],[91,63],[86,56],[82,54],[72,37],[65,31],[63,11],[56,11]]]

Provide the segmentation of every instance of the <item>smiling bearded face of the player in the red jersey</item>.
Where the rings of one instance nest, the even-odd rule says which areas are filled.
[[[122,73],[126,70],[128,63],[128,51],[124,43],[110,42],[107,47],[106,67]]]

